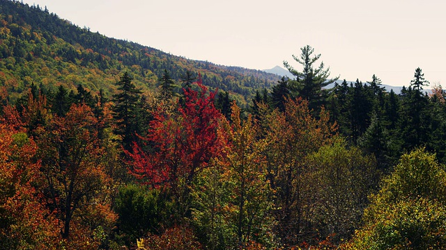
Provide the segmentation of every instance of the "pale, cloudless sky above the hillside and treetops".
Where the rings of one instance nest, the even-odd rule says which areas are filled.
[[[446,85],[444,0],[23,0],[112,38],[249,69],[283,67],[309,44],[330,76]]]

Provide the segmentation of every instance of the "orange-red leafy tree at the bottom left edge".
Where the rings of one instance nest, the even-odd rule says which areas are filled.
[[[36,143],[0,124],[0,242],[3,249],[61,249],[59,221],[41,195]]]

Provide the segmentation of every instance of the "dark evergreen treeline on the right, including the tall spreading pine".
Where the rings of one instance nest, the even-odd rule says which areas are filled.
[[[300,58],[296,58],[302,72],[285,62],[295,78],[282,78],[270,92],[258,90],[252,100],[253,113],[258,113],[256,103],[284,110],[287,98],[301,97],[309,101],[316,117],[325,107],[339,134],[349,144],[373,153],[380,169],[391,168],[403,153],[419,147],[435,152],[440,163],[445,163],[446,95],[440,85],[423,90],[429,81],[422,69],[415,69],[408,88],[396,94],[393,90],[387,92],[376,75],[367,83],[357,79],[355,83],[344,80],[339,84],[337,78],[328,78],[328,69],[314,67],[320,56],[314,55],[312,47],[302,48]],[[333,88],[325,88],[333,82]]]

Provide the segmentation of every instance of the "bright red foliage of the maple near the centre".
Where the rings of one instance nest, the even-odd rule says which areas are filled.
[[[155,152],[146,153],[134,144],[132,157],[134,174],[146,178],[153,187],[171,183],[179,177],[187,182],[208,165],[211,158],[222,153],[222,140],[217,136],[222,115],[214,106],[215,92],[201,83],[200,91],[184,90],[185,105],[178,113],[157,112],[144,140],[154,144]]]

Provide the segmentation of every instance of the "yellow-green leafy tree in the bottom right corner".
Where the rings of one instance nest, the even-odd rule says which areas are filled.
[[[401,156],[344,249],[444,249],[446,173],[435,158],[424,149]]]

